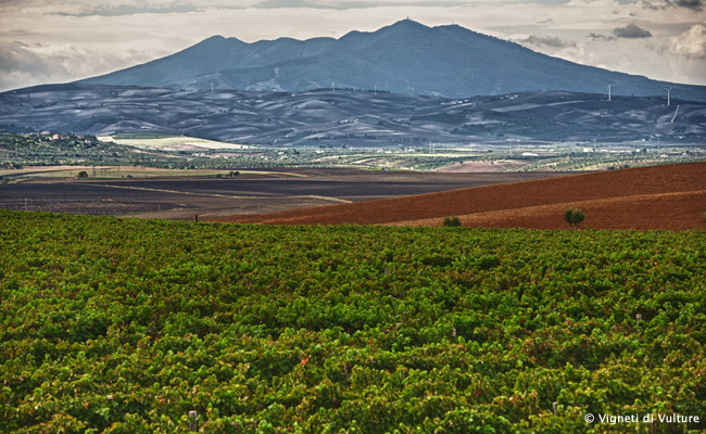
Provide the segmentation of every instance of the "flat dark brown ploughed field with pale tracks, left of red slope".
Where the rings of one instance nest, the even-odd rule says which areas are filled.
[[[41,178],[0,183],[0,208],[193,220],[194,215],[209,219],[278,213],[562,176],[559,173],[443,174],[349,168],[288,168],[281,171],[263,168],[216,179],[175,176],[209,170],[135,168],[135,178],[130,179],[76,180],[55,177],[60,173],[50,170],[54,168],[40,167],[31,176]],[[155,176],[160,173],[173,175]],[[142,177],[144,175],[149,176]]]

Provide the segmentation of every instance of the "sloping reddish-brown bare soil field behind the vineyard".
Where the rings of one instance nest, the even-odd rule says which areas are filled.
[[[564,209],[580,208],[592,229],[706,229],[706,162],[640,167],[476,187],[211,221],[264,225],[464,226],[567,229]]]

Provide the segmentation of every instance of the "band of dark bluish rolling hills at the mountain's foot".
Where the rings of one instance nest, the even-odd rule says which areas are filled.
[[[668,106],[663,97],[607,101],[603,94],[566,91],[444,99],[353,90],[211,92],[67,84],[0,93],[0,129],[97,136],[150,131],[278,146],[659,137],[703,143],[706,103],[672,98]]]

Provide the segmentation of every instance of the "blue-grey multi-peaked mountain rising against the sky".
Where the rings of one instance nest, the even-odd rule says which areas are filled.
[[[214,36],[184,51],[83,84],[169,89],[303,91],[386,90],[467,98],[532,90],[614,94],[672,94],[706,101],[706,87],[580,65],[458,25],[427,27],[411,20],[339,39],[280,38],[247,43]]]

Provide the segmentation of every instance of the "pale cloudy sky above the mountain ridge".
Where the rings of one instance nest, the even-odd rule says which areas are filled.
[[[105,74],[213,35],[338,38],[407,16],[587,65],[706,85],[706,0],[0,0],[0,91]]]

